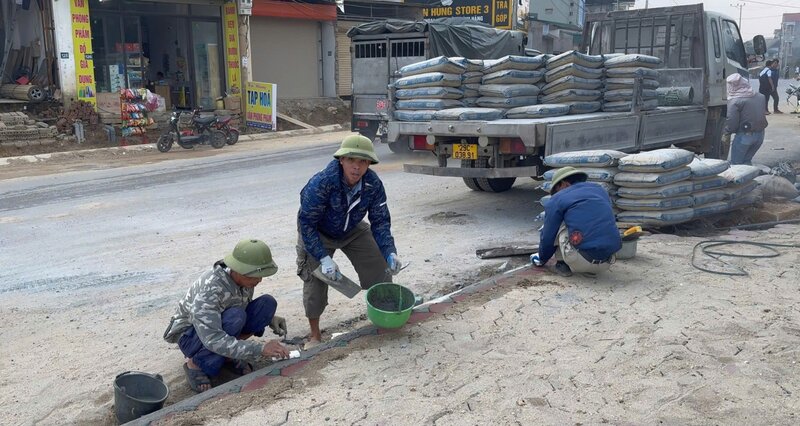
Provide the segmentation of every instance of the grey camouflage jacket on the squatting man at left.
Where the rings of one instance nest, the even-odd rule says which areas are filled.
[[[178,310],[164,332],[164,340],[177,343],[181,335],[194,326],[203,346],[212,352],[234,359],[257,361],[263,345],[258,342],[237,340],[222,329],[222,312],[228,308],[245,308],[253,300],[253,289],[236,285],[225,271],[225,264],[217,262],[214,268],[203,273],[178,302]]]

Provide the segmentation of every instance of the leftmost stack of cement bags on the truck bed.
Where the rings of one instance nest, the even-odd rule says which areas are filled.
[[[462,76],[467,67],[459,61],[439,56],[400,68],[394,82],[395,119],[428,121],[436,111],[463,107]]]

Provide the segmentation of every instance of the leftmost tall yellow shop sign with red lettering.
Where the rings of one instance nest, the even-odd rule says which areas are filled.
[[[69,0],[69,2],[72,17],[72,56],[75,58],[75,80],[78,83],[77,98],[96,107],[89,0]]]

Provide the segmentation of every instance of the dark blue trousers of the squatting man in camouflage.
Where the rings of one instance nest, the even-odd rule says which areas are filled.
[[[229,336],[238,337],[241,334],[253,334],[263,336],[264,330],[272,322],[275,311],[278,309],[278,302],[275,298],[265,294],[257,297],[250,302],[246,308],[228,308],[222,312],[222,329]],[[200,367],[209,376],[216,376],[222,365],[225,364],[225,357],[212,352],[205,346],[194,327],[185,331],[178,341],[178,347],[187,358]]]

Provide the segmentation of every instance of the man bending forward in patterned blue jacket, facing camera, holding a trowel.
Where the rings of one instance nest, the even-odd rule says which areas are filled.
[[[378,163],[372,142],[361,135],[348,136],[333,157],[300,192],[297,213],[297,275],[303,280],[303,306],[311,328],[306,349],[322,341],[319,318],[328,304],[328,285],[312,272],[321,265],[327,278],[338,279],[336,250],[350,259],[363,289],[391,282],[401,268],[386,192],[369,169]],[[367,215],[369,223],[363,221]]]

